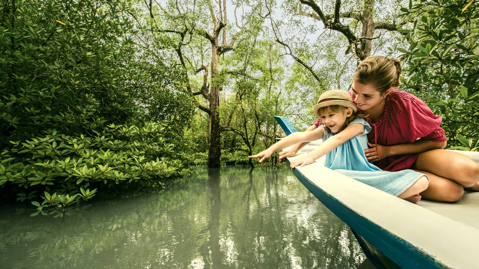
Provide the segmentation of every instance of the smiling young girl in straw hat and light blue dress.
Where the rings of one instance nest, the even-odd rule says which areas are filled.
[[[259,158],[261,163],[277,150],[322,138],[323,143],[308,155],[292,160],[291,168],[308,165],[326,155],[324,166],[327,168],[409,202],[421,200],[419,193],[428,186],[426,175],[410,169],[383,171],[367,161],[364,150],[368,148],[366,135],[371,131],[371,126],[357,114],[357,107],[347,92],[324,92],[313,110],[321,118],[323,128],[290,134],[249,158]]]

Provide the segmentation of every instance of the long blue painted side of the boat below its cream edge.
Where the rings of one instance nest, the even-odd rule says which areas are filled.
[[[433,255],[411,245],[409,242],[365,218],[360,213],[353,211],[347,205],[312,183],[297,168],[293,169],[293,174],[332,213],[337,215],[352,230],[377,247],[400,267],[421,269],[449,268],[435,259]]]

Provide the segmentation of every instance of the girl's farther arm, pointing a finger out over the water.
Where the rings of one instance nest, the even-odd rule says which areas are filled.
[[[296,132],[274,143],[273,146],[268,147],[266,150],[263,150],[262,152],[256,155],[248,156],[248,158],[259,158],[259,162],[262,163],[263,161],[271,157],[271,155],[275,151],[281,150],[288,146],[293,146],[297,143],[311,142],[314,140],[321,139],[323,137],[324,137],[323,128],[318,128],[316,130],[308,131],[308,132]]]

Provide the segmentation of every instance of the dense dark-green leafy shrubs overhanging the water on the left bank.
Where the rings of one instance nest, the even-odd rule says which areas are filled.
[[[2,194],[64,208],[186,173],[192,100],[141,43],[133,2],[0,3]]]

